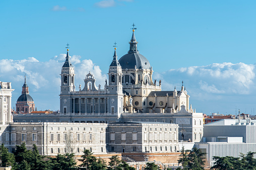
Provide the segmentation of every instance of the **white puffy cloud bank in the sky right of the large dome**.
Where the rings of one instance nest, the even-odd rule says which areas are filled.
[[[161,75],[164,81],[168,78],[178,78],[189,81],[189,86],[195,86],[207,93],[248,94],[254,88],[255,65],[244,63],[213,63],[207,66],[191,66],[171,69]],[[170,83],[170,82],[169,82]]]

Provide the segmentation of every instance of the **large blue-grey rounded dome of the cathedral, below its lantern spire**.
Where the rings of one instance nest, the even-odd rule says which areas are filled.
[[[146,57],[137,53],[127,53],[122,56],[119,60],[119,63],[122,69],[134,69],[135,66],[137,69],[150,69],[150,63]]]

